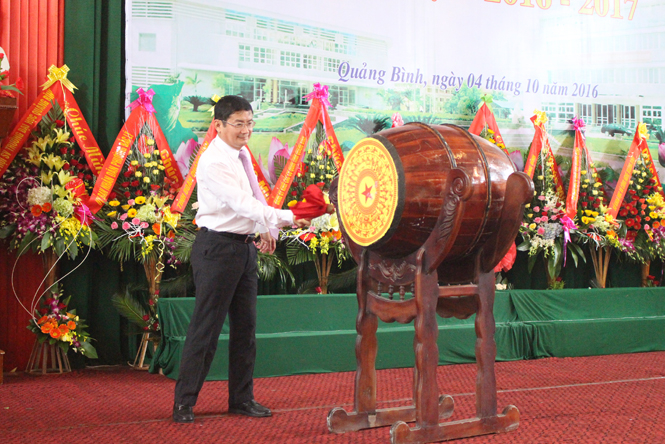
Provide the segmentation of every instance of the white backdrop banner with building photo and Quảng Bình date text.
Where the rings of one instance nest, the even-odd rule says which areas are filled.
[[[137,87],[155,90],[174,151],[203,137],[213,95],[238,94],[255,109],[250,148],[265,161],[273,137],[296,141],[303,97],[320,82],[345,150],[389,127],[397,111],[405,122],[468,126],[489,95],[509,151],[527,150],[538,109],[562,159],[573,145],[570,120],[584,119],[610,186],[638,122],[649,124],[652,155],[665,165],[665,0],[128,0],[126,8],[127,100]]]

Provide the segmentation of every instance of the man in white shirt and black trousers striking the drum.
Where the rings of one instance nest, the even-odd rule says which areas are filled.
[[[254,128],[253,116],[252,106],[244,98],[221,98],[215,105],[217,137],[201,155],[196,170],[196,223],[200,230],[191,256],[196,303],[175,388],[175,422],[194,421],[192,407],[210,370],[227,313],[229,412],[253,417],[272,415],[270,409],[254,400],[253,392],[256,249],[264,253],[275,250],[269,228],[307,226],[309,222],[296,219],[290,210],[269,207],[255,197],[252,190],[257,189],[256,176],[248,177],[241,160],[246,154],[241,151],[247,150],[245,145]],[[260,240],[255,247],[256,232],[260,233]]]

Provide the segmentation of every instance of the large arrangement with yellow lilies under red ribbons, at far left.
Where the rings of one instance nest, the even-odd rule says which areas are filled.
[[[0,180],[0,238],[10,239],[19,254],[30,247],[75,259],[82,247],[94,247],[96,241],[93,216],[84,204],[92,180],[54,102]]]

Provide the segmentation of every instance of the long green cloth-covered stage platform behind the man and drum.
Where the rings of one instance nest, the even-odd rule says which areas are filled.
[[[162,298],[152,372],[177,378],[193,298]],[[353,371],[355,294],[259,296],[255,376]],[[665,350],[665,288],[499,291],[497,361]],[[474,319],[438,318],[439,364],[475,362]],[[379,321],[377,369],[412,367],[413,323]],[[227,379],[228,320],[208,380]]]

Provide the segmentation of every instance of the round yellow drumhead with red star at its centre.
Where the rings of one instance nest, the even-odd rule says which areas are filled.
[[[399,159],[380,140],[367,138],[344,160],[339,175],[339,213],[346,234],[360,246],[381,240],[393,225],[399,202],[395,158]]]

